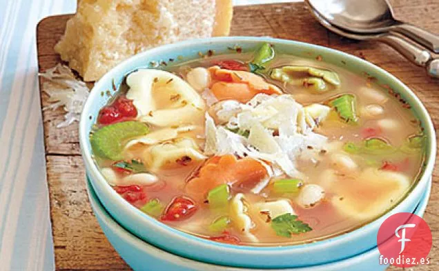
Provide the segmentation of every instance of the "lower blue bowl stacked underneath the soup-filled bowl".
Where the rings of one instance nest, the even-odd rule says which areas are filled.
[[[431,183],[431,181],[429,182]],[[213,265],[208,263],[201,263],[179,257],[175,254],[170,254],[164,250],[160,250],[149,243],[142,241],[135,237],[127,230],[121,227],[101,205],[99,199],[91,187],[88,185],[88,197],[95,212],[97,221],[101,225],[104,234],[121,255],[122,259],[130,265],[134,270],[148,270],[148,271],[257,271],[256,269],[232,268],[221,265]],[[430,185],[425,191],[422,199],[414,211],[415,214],[422,217],[427,208],[427,203],[430,195]],[[349,259],[327,263],[324,265],[315,265],[309,268],[289,268],[277,271],[383,271],[387,265],[380,265],[380,252],[378,248],[362,254],[355,255]],[[145,268],[145,267],[148,268]],[[264,270],[267,271],[267,270]],[[273,270],[274,271],[274,270]]]

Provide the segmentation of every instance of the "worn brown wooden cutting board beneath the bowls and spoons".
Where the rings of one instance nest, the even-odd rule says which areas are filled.
[[[399,19],[439,33],[438,0],[391,2]],[[59,63],[59,56],[55,54],[53,47],[64,33],[66,21],[71,16],[48,17],[39,23],[37,47],[40,72]],[[326,31],[314,21],[303,3],[236,7],[231,35],[271,36],[305,41],[367,59],[406,83],[427,106],[436,127],[439,123],[439,80],[427,77],[422,68],[413,66],[388,46],[350,41]],[[48,97],[43,89],[40,90],[41,106],[44,107],[48,105]],[[42,114],[57,270],[130,270],[101,232],[88,203],[77,123],[68,128],[56,128],[63,121],[63,110],[45,110]],[[438,174],[436,169],[433,173],[431,199],[425,214],[425,219],[433,230],[431,265],[413,268],[416,271],[439,270]]]

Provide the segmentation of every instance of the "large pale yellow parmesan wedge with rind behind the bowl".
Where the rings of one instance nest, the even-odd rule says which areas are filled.
[[[55,51],[96,81],[148,48],[228,35],[232,12],[231,0],[81,0]]]

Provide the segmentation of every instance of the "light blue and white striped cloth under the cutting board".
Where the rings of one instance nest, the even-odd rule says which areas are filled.
[[[234,0],[236,5],[286,0]],[[296,0],[297,1],[297,0]],[[35,28],[74,0],[0,0],[0,270],[54,270]]]

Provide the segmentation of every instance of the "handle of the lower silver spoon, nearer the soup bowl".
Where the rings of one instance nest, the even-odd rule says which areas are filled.
[[[439,78],[439,59],[436,55],[431,54],[429,50],[396,34],[386,34],[376,38],[376,40],[387,43],[411,62],[427,68],[427,72],[431,77]]]

